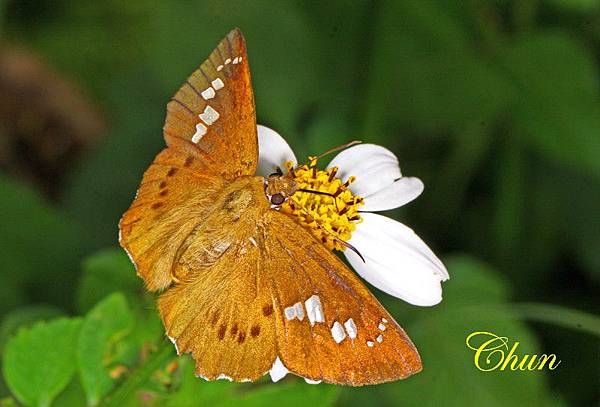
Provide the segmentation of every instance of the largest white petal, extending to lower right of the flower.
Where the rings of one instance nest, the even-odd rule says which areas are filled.
[[[365,280],[386,293],[414,305],[435,305],[442,300],[441,281],[448,279],[442,262],[407,226],[374,213],[362,215],[344,254]]]

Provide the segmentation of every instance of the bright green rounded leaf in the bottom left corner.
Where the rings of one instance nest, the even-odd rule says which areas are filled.
[[[46,407],[67,386],[77,365],[80,319],[62,318],[22,329],[6,345],[4,378],[27,406]]]

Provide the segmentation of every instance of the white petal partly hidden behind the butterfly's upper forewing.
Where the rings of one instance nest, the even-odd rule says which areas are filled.
[[[289,144],[277,133],[268,127],[258,125],[258,168],[256,175],[263,177],[273,173],[275,167],[281,167],[286,161],[298,163]]]

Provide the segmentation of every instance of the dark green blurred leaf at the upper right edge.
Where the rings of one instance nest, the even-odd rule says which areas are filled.
[[[504,65],[518,92],[515,125],[529,144],[600,177],[600,84],[590,50],[564,32],[536,33],[520,38]]]

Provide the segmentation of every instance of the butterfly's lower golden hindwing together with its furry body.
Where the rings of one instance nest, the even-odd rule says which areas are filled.
[[[244,177],[215,196],[175,263],[187,277],[158,300],[167,335],[210,380],[256,380],[275,359],[270,281],[255,238],[269,208],[263,188],[262,178]]]

